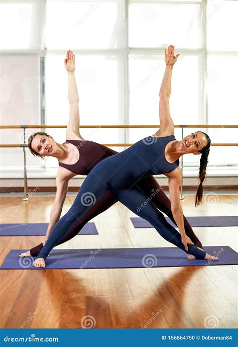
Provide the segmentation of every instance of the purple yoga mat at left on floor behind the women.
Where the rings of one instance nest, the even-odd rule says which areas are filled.
[[[48,223],[0,224],[0,236],[38,236],[45,235]],[[98,235],[95,223],[87,223],[78,235]]]

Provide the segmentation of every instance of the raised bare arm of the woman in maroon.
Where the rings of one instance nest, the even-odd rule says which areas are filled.
[[[75,70],[75,56],[71,50],[67,51],[66,59],[64,59],[64,66],[68,71],[69,79],[69,122],[66,130],[67,140],[78,140],[81,139],[79,129],[79,97],[77,91],[77,84],[74,75]]]

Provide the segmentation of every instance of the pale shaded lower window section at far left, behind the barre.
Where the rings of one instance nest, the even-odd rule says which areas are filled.
[[[4,55],[1,65],[1,125],[40,123],[40,57]],[[26,137],[32,129],[26,130]],[[1,144],[23,144],[23,129],[1,129]],[[23,166],[22,148],[1,148],[1,166],[7,170]],[[30,167],[41,167],[39,158],[27,150]]]

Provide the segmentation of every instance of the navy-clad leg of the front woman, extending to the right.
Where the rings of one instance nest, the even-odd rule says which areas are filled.
[[[181,240],[181,234],[166,221],[163,214],[151,201],[146,202],[147,198],[140,189],[134,186],[129,190],[123,189],[113,192],[113,195],[115,195],[118,201],[121,201],[131,211],[150,222],[154,228],[156,228],[158,233],[167,241],[181,248],[186,253],[194,255],[197,259],[205,258],[205,251],[194,245],[188,244],[188,250],[185,250]]]

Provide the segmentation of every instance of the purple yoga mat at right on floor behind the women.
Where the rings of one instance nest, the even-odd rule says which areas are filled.
[[[238,216],[203,216],[203,217],[186,217],[191,227],[210,227],[210,226],[237,226]],[[172,226],[175,224],[166,217],[166,220]],[[140,217],[132,217],[132,224],[135,228],[153,228],[153,226],[145,219]]]

